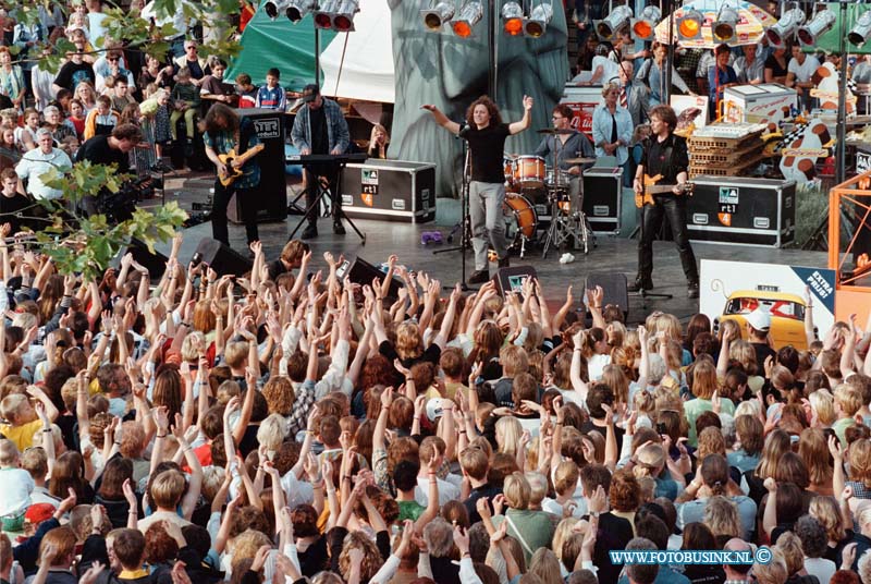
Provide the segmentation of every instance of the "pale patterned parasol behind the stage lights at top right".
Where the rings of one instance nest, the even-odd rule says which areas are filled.
[[[765,28],[777,23],[777,19],[745,0],[690,0],[684,3],[683,8],[678,8],[674,11],[674,41],[678,42],[682,47],[691,49],[713,49],[720,45],[721,42],[717,42],[713,38],[711,25],[716,21],[720,9],[724,5],[738,13],[735,40],[728,44],[733,47],[756,45],[762,38]],[[678,40],[677,20],[689,10],[697,10],[704,16],[701,36],[694,40]],[[670,19],[666,17],[657,25],[657,40],[660,42],[668,42],[668,22]]]

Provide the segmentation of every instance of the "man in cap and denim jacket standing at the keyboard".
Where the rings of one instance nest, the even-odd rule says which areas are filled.
[[[291,131],[291,139],[299,154],[303,156],[344,154],[351,144],[351,134],[339,104],[323,97],[315,84],[306,85],[302,99],[305,105],[296,112],[296,120]],[[318,183],[328,185],[333,209],[338,209],[341,205],[340,194],[335,188],[340,167],[322,162],[304,163],[303,168],[307,185],[308,227],[303,231],[302,238],[306,240],[318,236],[318,209],[311,208],[318,197]],[[345,228],[342,226],[340,214],[333,211],[332,215],[333,233],[343,235]]]

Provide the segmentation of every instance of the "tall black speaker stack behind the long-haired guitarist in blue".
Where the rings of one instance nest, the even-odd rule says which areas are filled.
[[[243,108],[236,110],[240,118],[250,120],[263,151],[257,155],[260,165],[260,184],[257,186],[257,221],[283,221],[287,218],[287,181],[284,175],[284,120],[277,110]],[[230,199],[226,218],[234,223],[244,223],[242,206],[236,196]]]

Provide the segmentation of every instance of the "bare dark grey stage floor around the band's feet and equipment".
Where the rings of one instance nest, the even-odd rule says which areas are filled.
[[[182,181],[180,181],[182,182]],[[189,177],[184,181],[184,188],[173,193],[168,188],[167,200],[177,200],[185,209],[191,209],[191,203],[205,200],[210,182],[205,178]],[[169,186],[169,185],[168,185]],[[159,204],[159,200],[157,202]],[[260,239],[268,259],[275,259],[291,231],[299,222],[297,216],[290,216],[286,221],[260,223]],[[314,269],[324,269],[323,252],[334,255],[344,254],[346,257],[361,256],[371,264],[385,261],[390,254],[400,256],[400,261],[413,270],[426,271],[443,284],[457,282],[461,279],[462,257],[459,252],[449,252],[433,255],[434,250],[446,247],[449,244],[428,245],[420,244],[420,234],[424,231],[440,230],[445,235],[451,226],[439,226],[434,222],[422,224],[384,222],[375,220],[355,220],[357,227],[366,234],[364,245],[356,233],[346,226],[347,234],[334,235],[329,219],[319,222],[320,236],[310,240],[309,244],[315,253]],[[185,240],[180,258],[188,261],[194,254],[200,239],[211,236],[211,223],[201,223],[185,230]],[[298,232],[297,232],[298,235]],[[456,241],[456,240],[455,240]],[[245,229],[243,226],[230,226],[230,242],[234,250],[246,253]],[[631,281],[635,278],[637,266],[636,241],[614,238],[598,238],[598,247],[585,256],[581,251],[569,250],[575,255],[572,264],[560,264],[562,252],[552,250],[545,259],[541,258],[541,251],[532,247],[527,256],[520,259],[512,257],[513,266],[531,265],[538,272],[538,278],[545,290],[549,304],[559,305],[565,300],[566,287],[574,285],[574,293],[579,297],[585,278],[589,272],[613,271],[625,273]],[[168,244],[159,244],[157,248],[167,253]],[[695,244],[694,250],[698,260],[701,259],[728,259],[733,261],[759,261],[787,264],[794,266],[824,267],[826,254],[822,252],[803,252],[800,250],[775,250],[769,247],[750,247],[736,245]],[[652,311],[665,311],[678,316],[686,321],[698,311],[698,301],[686,297],[686,280],[680,268],[677,251],[672,242],[657,242],[654,244],[654,292],[674,294],[672,300],[647,300],[642,306],[640,297],[631,297],[629,302],[629,323],[642,321]],[[466,253],[466,276],[474,271],[473,253]],[[491,265],[491,275],[495,272],[495,265]]]

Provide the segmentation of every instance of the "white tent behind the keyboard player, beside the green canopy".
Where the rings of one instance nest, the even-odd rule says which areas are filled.
[[[393,42],[387,0],[360,2],[354,27],[353,33],[338,34],[320,54],[323,94],[393,104]]]

